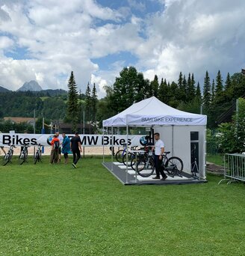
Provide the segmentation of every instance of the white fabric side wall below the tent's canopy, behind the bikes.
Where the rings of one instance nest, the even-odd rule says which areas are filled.
[[[165,151],[171,151],[170,156],[179,156],[184,164],[184,172],[191,174],[190,132],[199,132],[199,174],[206,178],[206,127],[205,126],[162,126],[154,127],[159,132],[165,144]]]

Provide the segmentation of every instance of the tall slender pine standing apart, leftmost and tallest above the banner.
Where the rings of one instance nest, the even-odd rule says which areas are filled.
[[[68,119],[72,121],[72,131],[75,132],[78,124],[78,91],[73,71],[68,81]]]

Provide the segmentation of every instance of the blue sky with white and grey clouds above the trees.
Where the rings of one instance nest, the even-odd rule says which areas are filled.
[[[99,97],[123,67],[145,78],[203,84],[245,68],[244,0],[0,0],[0,85],[16,90],[96,83]]]

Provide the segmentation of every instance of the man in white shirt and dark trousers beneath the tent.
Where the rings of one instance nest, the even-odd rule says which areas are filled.
[[[166,180],[167,175],[164,173],[164,170],[161,168],[163,162],[163,153],[164,153],[164,141],[160,139],[160,134],[158,132],[154,133],[155,138],[155,172],[156,176],[153,179],[160,180],[160,174],[162,176],[161,180]]]

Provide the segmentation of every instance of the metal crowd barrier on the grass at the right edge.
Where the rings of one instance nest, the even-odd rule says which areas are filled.
[[[234,181],[245,181],[245,155],[241,153],[226,153],[224,157],[224,178],[229,180],[227,184]]]

